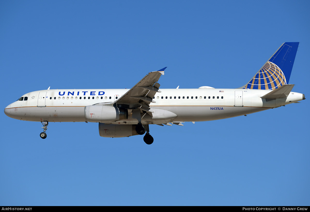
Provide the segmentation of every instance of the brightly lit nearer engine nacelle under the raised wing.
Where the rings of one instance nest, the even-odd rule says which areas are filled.
[[[119,121],[128,118],[126,109],[106,105],[89,105],[84,108],[85,120],[88,122]]]

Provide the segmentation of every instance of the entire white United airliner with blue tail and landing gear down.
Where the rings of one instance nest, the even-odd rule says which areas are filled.
[[[305,99],[288,84],[299,42],[284,43],[244,86],[217,89],[161,89],[163,68],[148,73],[128,89],[69,89],[33,91],[9,104],[4,113],[24,121],[98,122],[102,137],[144,135],[153,143],[149,125],[183,125],[185,121],[211,121],[277,108]]]

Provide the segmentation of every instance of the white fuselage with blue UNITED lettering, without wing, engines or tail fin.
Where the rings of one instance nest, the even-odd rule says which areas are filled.
[[[111,104],[127,89],[72,89],[42,90],[23,95],[27,100],[8,105],[7,116],[25,121],[75,122],[86,121],[84,108],[94,104]],[[269,90],[253,89],[161,89],[150,108],[162,109],[177,115],[173,121],[211,121],[242,116],[276,108],[303,99],[303,95],[290,92],[287,98],[266,101],[260,98]],[[155,109],[156,110],[156,109]],[[137,124],[131,117],[112,124]],[[146,120],[142,124],[164,124],[166,120]]]

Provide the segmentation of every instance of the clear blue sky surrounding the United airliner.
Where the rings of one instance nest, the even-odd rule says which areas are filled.
[[[300,42],[299,104],[103,138],[1,113],[0,205],[310,205],[309,1],[0,1],[1,107],[30,91],[237,88]]]

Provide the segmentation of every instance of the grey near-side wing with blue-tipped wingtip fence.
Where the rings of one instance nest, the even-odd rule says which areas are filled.
[[[153,97],[156,92],[160,92],[158,89],[160,84],[157,81],[161,75],[164,75],[166,68],[148,73],[139,83],[116,100],[114,105],[122,105],[122,108],[140,108],[144,111],[151,112],[149,110],[149,104],[155,102]]]

